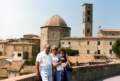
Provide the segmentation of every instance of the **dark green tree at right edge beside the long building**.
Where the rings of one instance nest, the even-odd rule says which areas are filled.
[[[112,50],[120,58],[120,39],[117,39],[113,44]]]

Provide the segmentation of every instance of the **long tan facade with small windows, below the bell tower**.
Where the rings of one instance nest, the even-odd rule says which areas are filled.
[[[78,50],[79,54],[99,54],[115,57],[112,45],[117,39],[117,37],[63,38],[61,47]]]

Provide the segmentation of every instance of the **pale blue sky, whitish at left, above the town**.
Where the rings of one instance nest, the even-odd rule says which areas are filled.
[[[71,27],[71,35],[82,33],[82,4],[93,3],[93,34],[98,27],[120,28],[120,0],[0,0],[0,38],[40,35],[40,27],[60,15]]]

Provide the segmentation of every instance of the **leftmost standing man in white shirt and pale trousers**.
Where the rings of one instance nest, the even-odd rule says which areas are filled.
[[[52,58],[49,54],[50,46],[45,45],[44,50],[37,55],[36,67],[37,77],[42,81],[53,81],[52,77]]]

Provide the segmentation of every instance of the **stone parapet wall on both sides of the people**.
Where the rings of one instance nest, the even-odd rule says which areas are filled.
[[[120,64],[106,64],[94,66],[75,66],[72,81],[96,81],[120,74]],[[36,81],[36,74],[17,76],[0,81]]]

